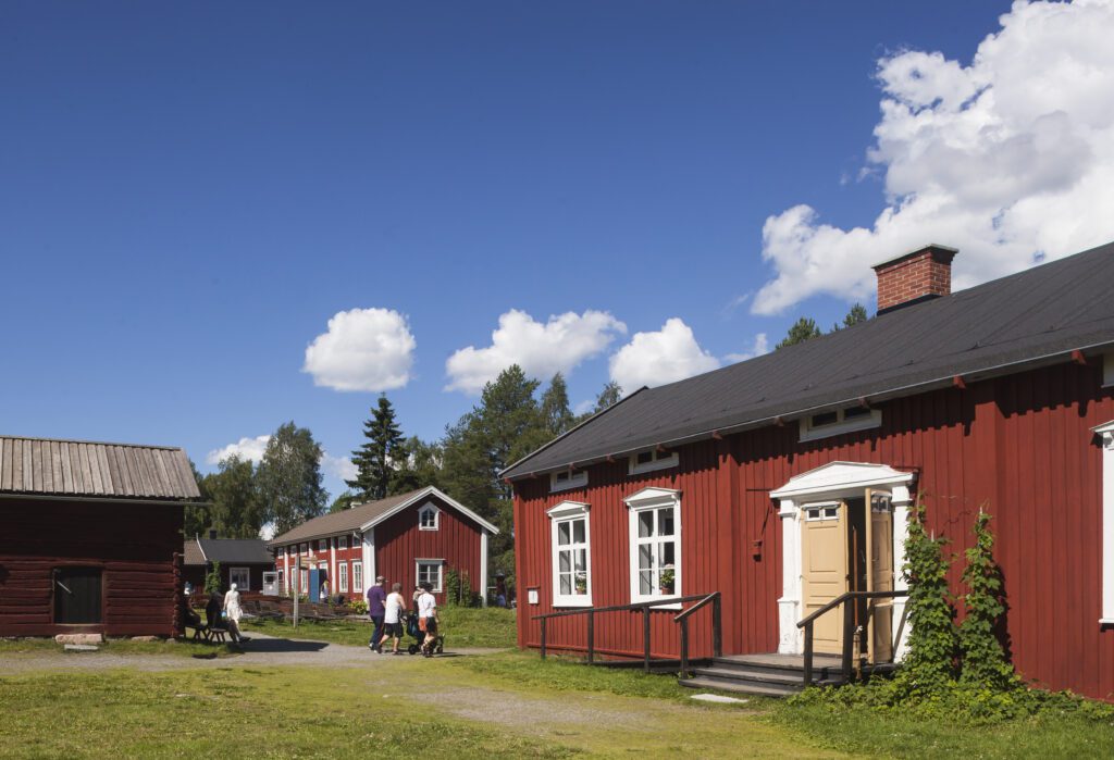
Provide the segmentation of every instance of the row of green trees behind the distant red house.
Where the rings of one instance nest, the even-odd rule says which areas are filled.
[[[352,452],[355,475],[331,503],[322,486],[323,450],[305,427],[289,422],[267,442],[258,465],[236,455],[217,471],[194,470],[205,503],[186,507],[187,536],[215,530],[222,537],[257,537],[272,523],[275,535],[302,522],[354,504],[433,485],[499,527],[490,544],[491,563],[514,578],[511,490],[499,472],[622,397],[607,383],[584,415],[569,406],[560,373],[545,389],[512,365],[483,386],[477,403],[443,437],[427,442],[402,433],[393,405],[381,395],[363,422],[363,443]]]

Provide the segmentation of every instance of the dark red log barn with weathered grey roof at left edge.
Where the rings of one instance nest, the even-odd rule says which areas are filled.
[[[180,448],[0,437],[0,635],[174,635]]]

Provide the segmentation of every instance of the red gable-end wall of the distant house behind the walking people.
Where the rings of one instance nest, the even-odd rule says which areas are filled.
[[[418,511],[427,503],[407,509],[385,522],[375,525],[375,571],[387,579],[387,589],[392,583],[401,583],[403,596],[410,598],[418,582],[414,572],[416,559],[444,560],[441,569],[441,584],[444,586],[449,570],[468,573],[475,593],[482,593],[480,585],[480,533],[482,530],[471,520],[431,499],[441,510],[440,523],[436,531],[418,527]],[[374,579],[364,579],[371,583]],[[438,604],[444,602],[444,592],[434,594]]]

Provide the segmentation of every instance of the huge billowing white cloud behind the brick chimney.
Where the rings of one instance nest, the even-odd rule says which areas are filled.
[[[1114,238],[1114,2],[1016,2],[970,66],[938,52],[879,61],[868,152],[887,201],[869,228],[809,206],[766,219],[775,269],[751,310],[815,294],[866,299],[870,265],[928,243],[960,249],[954,287]]]

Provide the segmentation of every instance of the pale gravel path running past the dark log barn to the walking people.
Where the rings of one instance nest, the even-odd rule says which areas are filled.
[[[173,645],[173,644],[172,644]],[[460,649],[446,652],[441,657],[460,657],[489,654],[494,649]],[[35,654],[17,654],[0,658],[0,675],[11,675],[35,670],[109,670],[128,668],[139,671],[183,670],[187,668],[231,668],[231,667],[282,667],[314,665],[361,667],[374,664],[391,667],[405,657],[373,654],[365,648],[346,644],[329,644],[322,641],[303,641],[280,639],[265,633],[252,633],[251,640],[244,645],[244,653],[226,658],[194,658],[180,654],[117,654],[111,651],[99,652],[50,652]]]

